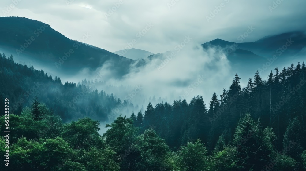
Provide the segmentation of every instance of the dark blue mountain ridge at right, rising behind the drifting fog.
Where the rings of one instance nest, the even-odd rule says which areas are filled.
[[[218,48],[223,50],[234,72],[242,78],[249,78],[251,70],[260,74],[282,67],[284,64],[304,60],[306,32],[295,31],[271,35],[255,42],[236,43],[215,39],[202,44],[204,49]]]

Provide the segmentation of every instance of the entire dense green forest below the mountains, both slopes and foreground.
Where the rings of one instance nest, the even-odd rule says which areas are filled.
[[[59,77],[14,63],[13,56],[1,55],[0,67],[0,103],[8,92],[15,105],[25,99],[9,115],[12,170],[306,169],[304,62],[275,68],[267,79],[256,71],[246,87],[236,74],[229,89],[212,93],[207,106],[198,95],[190,102],[149,103],[144,111],[129,111],[129,118],[122,111],[103,135],[94,119],[107,118],[118,104],[133,104],[81,84],[63,85]],[[70,105],[82,89],[83,97]],[[3,156],[2,136],[0,144]]]

